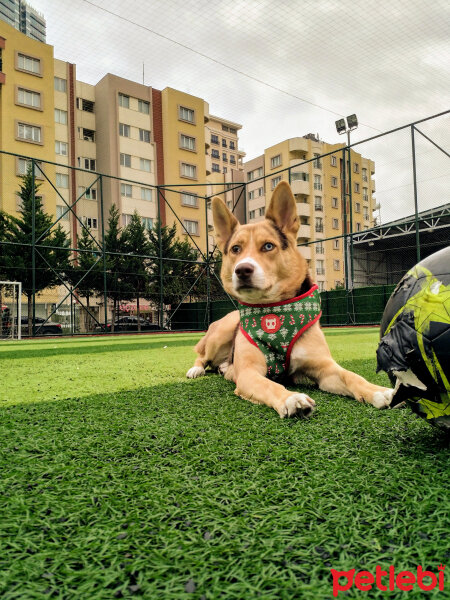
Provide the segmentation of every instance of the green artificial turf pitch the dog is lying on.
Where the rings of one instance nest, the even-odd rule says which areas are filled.
[[[388,383],[376,330],[326,334]],[[443,434],[312,388],[313,417],[280,420],[184,378],[199,337],[0,343],[1,598],[328,600],[331,568],[449,563]]]

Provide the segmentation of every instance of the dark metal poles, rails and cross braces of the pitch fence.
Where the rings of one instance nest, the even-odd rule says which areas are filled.
[[[417,171],[416,171],[416,148],[415,148],[415,138],[416,138],[416,134],[421,135],[423,138],[425,138],[428,142],[430,142],[433,146],[435,146],[438,150],[440,150],[445,156],[450,157],[450,154],[443,149],[441,146],[439,146],[434,140],[432,140],[431,138],[429,138],[427,135],[425,135],[419,128],[418,125],[427,121],[430,121],[432,119],[436,119],[438,117],[442,117],[444,115],[447,115],[450,113],[449,111],[444,111],[432,116],[429,116],[427,118],[424,119],[420,119],[418,121],[415,121],[413,123],[409,123],[407,125],[403,125],[401,127],[397,127],[395,129],[391,129],[389,131],[380,133],[378,135],[366,138],[364,140],[361,140],[359,142],[355,142],[353,144],[347,145],[345,147],[342,147],[340,150],[333,150],[331,152],[322,154],[318,157],[314,157],[311,159],[307,159],[307,160],[300,160],[297,164],[295,165],[291,165],[289,167],[286,167],[284,169],[280,169],[279,171],[275,171],[273,173],[271,173],[270,175],[263,175],[259,178],[253,179],[251,183],[254,183],[255,181],[259,181],[259,180],[266,180],[269,177],[273,178],[274,176],[281,174],[281,173],[286,173],[288,172],[288,176],[289,176],[289,183],[291,182],[291,173],[292,173],[292,169],[295,169],[298,166],[302,166],[302,165],[306,165],[310,162],[314,162],[317,160],[322,160],[323,158],[327,157],[327,156],[331,156],[331,155],[337,155],[338,153],[341,153],[342,156],[342,165],[344,165],[344,168],[342,169],[342,185],[341,185],[341,200],[342,200],[342,206],[343,206],[343,233],[333,236],[333,237],[329,237],[329,238],[324,238],[319,240],[320,242],[328,242],[331,240],[335,240],[335,239],[343,239],[343,244],[344,244],[344,249],[343,249],[343,257],[344,257],[344,282],[345,282],[345,299],[346,299],[346,309],[347,309],[347,323],[348,324],[355,324],[357,322],[357,319],[355,318],[355,310],[354,310],[354,298],[353,298],[353,290],[354,290],[354,258],[353,258],[353,252],[354,252],[354,239],[356,236],[360,236],[362,232],[354,232],[353,231],[353,209],[352,209],[352,205],[353,205],[353,199],[352,199],[352,170],[351,170],[351,149],[356,148],[357,146],[361,146],[363,144],[366,144],[372,140],[384,137],[384,136],[388,136],[391,135],[393,133],[399,132],[399,131],[403,131],[403,130],[409,130],[410,132],[410,137],[411,137],[411,161],[412,161],[412,176],[413,176],[413,194],[414,194],[414,228],[415,228],[415,235],[416,235],[416,259],[417,261],[420,260],[421,258],[421,247],[420,247],[420,236],[419,236],[419,230],[420,230],[420,217],[419,217],[419,210],[418,210],[418,191],[417,191]],[[145,258],[148,258],[150,260],[153,261],[157,261],[159,263],[159,272],[160,272],[160,301],[159,301],[159,326],[160,329],[164,329],[164,327],[166,327],[167,325],[170,325],[170,323],[172,322],[172,319],[174,317],[174,315],[176,314],[176,312],[180,309],[180,307],[183,304],[183,300],[185,300],[188,296],[189,296],[189,291],[192,290],[192,288],[195,286],[195,284],[197,283],[198,279],[201,277],[202,274],[206,274],[206,281],[207,281],[207,293],[206,293],[206,308],[205,308],[205,328],[209,325],[209,323],[211,322],[211,296],[210,296],[210,286],[211,286],[211,279],[215,278],[217,281],[219,281],[216,272],[214,271],[214,269],[212,269],[212,266],[215,264],[215,261],[212,259],[211,257],[211,252],[208,249],[208,238],[209,238],[209,217],[208,217],[208,206],[210,204],[210,201],[212,199],[213,196],[220,196],[220,195],[224,195],[226,192],[238,192],[238,196],[237,199],[234,203],[233,206],[233,212],[235,211],[236,207],[238,206],[238,204],[240,202],[243,203],[243,212],[245,215],[245,221],[247,219],[247,186],[248,186],[248,182],[242,182],[242,183],[235,183],[235,184],[230,184],[230,183],[209,183],[209,182],[204,182],[204,183],[192,183],[192,184],[167,184],[167,185],[150,185],[148,183],[143,183],[141,181],[135,181],[135,180],[131,180],[131,179],[124,179],[124,178],[120,178],[117,176],[112,176],[112,175],[108,175],[108,174],[104,174],[104,173],[99,173],[96,171],[90,171],[90,170],[86,170],[86,169],[81,169],[79,167],[71,167],[69,165],[64,165],[64,164],[59,164],[56,162],[51,162],[51,161],[44,161],[44,160],[39,160],[39,159],[35,159],[35,158],[31,158],[28,156],[24,156],[24,155],[19,155],[19,154],[15,154],[12,152],[7,152],[4,150],[0,150],[0,154],[5,155],[5,156],[11,156],[11,157],[18,157],[18,158],[25,158],[27,160],[31,161],[31,169],[32,169],[32,178],[33,178],[33,198],[32,198],[32,202],[33,202],[33,230],[32,230],[32,243],[31,243],[31,247],[32,247],[32,264],[31,264],[31,269],[32,269],[32,276],[33,276],[33,284],[32,284],[32,305],[33,305],[33,336],[37,336],[40,333],[40,329],[41,327],[52,317],[52,315],[58,310],[58,308],[70,297],[70,301],[73,302],[73,299],[76,298],[76,302],[79,303],[81,305],[81,307],[86,310],[88,313],[88,308],[83,304],[81,298],[76,294],[76,289],[77,287],[82,283],[83,279],[89,274],[89,272],[100,262],[103,263],[103,277],[104,277],[104,291],[103,291],[103,308],[104,308],[104,323],[106,325],[107,323],[107,311],[108,311],[108,298],[107,298],[107,287],[106,287],[106,255],[107,252],[105,250],[105,244],[104,244],[104,239],[105,239],[105,214],[104,214],[104,181],[109,179],[109,180],[116,180],[116,181],[120,181],[123,183],[128,183],[128,184],[135,184],[135,185],[141,185],[141,186],[145,186],[147,188],[152,188],[153,190],[155,190],[156,193],[156,203],[157,203],[157,219],[158,219],[158,223],[159,223],[159,231],[158,231],[158,237],[159,237],[159,256],[145,256]],[[95,177],[95,180],[89,185],[88,188],[86,189],[90,189],[92,188],[93,185],[97,184],[99,185],[99,214],[100,214],[100,221],[101,221],[101,234],[99,233],[99,235],[101,235],[101,241],[98,241],[90,232],[90,236],[92,237],[92,239],[94,240],[96,246],[98,247],[98,259],[96,260],[96,262],[92,265],[91,269],[89,271],[87,271],[83,277],[81,277],[81,279],[78,281],[78,283],[74,286],[69,286],[67,284],[66,281],[64,281],[63,278],[60,277],[60,275],[58,273],[56,273],[61,281],[61,286],[65,287],[67,290],[67,293],[65,294],[64,298],[58,303],[56,304],[55,308],[52,310],[52,312],[47,316],[47,319],[45,321],[45,323],[42,323],[39,327],[34,327],[35,324],[35,319],[36,319],[36,283],[35,283],[35,275],[36,275],[36,258],[37,256],[40,256],[41,259],[45,260],[45,258],[42,256],[42,254],[40,253],[40,250],[48,248],[48,246],[39,244],[39,241],[41,240],[41,238],[50,230],[52,229],[55,225],[57,225],[60,220],[63,218],[63,215],[61,215],[59,218],[57,218],[52,225],[48,228],[47,232],[45,232],[44,234],[41,234],[40,237],[36,238],[36,228],[35,228],[35,221],[34,221],[34,213],[35,213],[35,203],[36,203],[36,177],[40,175],[40,179],[42,179],[42,177],[47,180],[47,182],[50,184],[50,186],[53,188],[54,192],[57,194],[57,196],[64,202],[65,206],[67,207],[68,211],[73,215],[73,218],[76,219],[78,221],[78,223],[80,224],[81,228],[87,228],[89,230],[89,228],[87,227],[87,225],[85,225],[82,220],[80,219],[80,217],[78,216],[77,212],[76,212],[76,205],[77,203],[80,201],[80,199],[84,196],[84,193],[79,195],[78,197],[75,198],[75,200],[73,201],[72,204],[69,204],[68,202],[66,202],[66,200],[64,199],[63,195],[58,191],[57,187],[53,184],[53,182],[50,180],[49,177],[47,177],[46,173],[45,173],[45,169],[43,169],[43,165],[53,165],[55,167],[62,167],[64,169],[68,169],[70,171],[76,171],[76,172],[82,172],[85,174],[89,174],[90,176]],[[230,188],[230,185],[232,186]],[[180,219],[180,217],[177,215],[176,211],[174,210],[174,208],[171,206],[169,200],[166,197],[167,192],[172,192],[172,193],[182,193],[180,191],[180,188],[182,189],[186,189],[188,187],[196,187],[196,188],[205,188],[206,191],[206,187],[213,187],[215,189],[219,188],[218,191],[216,191],[214,194],[208,195],[198,195],[197,197],[200,200],[202,200],[204,202],[204,214],[205,214],[205,227],[206,227],[206,248],[207,250],[204,252],[202,251],[202,249],[198,246],[196,240],[193,238],[193,236],[189,233],[189,231],[187,231],[186,227],[184,226],[182,220]],[[220,187],[222,189],[220,189]],[[163,261],[164,260],[176,260],[176,259],[169,259],[169,258],[164,258],[162,256],[162,245],[161,245],[161,206],[164,205],[165,207],[168,207],[170,209],[170,211],[173,213],[173,216],[175,217],[176,222],[181,226],[181,231],[183,232],[183,234],[185,234],[191,244],[196,248],[197,252],[198,252],[198,260],[195,261],[195,264],[198,264],[199,266],[201,266],[201,271],[199,276],[197,277],[197,280],[192,284],[190,290],[185,294],[185,297],[178,303],[178,305],[172,310],[171,315],[168,319],[168,322],[164,322],[164,282],[163,282]],[[364,235],[370,235],[371,233],[375,232],[378,227],[375,227],[371,230],[365,231]],[[3,242],[5,244],[8,244],[9,242]],[[317,243],[317,240],[315,241],[311,241],[311,242],[307,242],[305,244],[299,244],[299,246],[311,246]],[[74,244],[76,246],[76,243]],[[83,252],[83,250],[80,250],[77,247],[74,248],[69,248],[68,250],[70,250],[70,252],[72,253],[80,253]],[[111,254],[111,253],[109,253]],[[139,256],[139,255],[133,255],[133,256]],[[144,256],[142,256],[144,258]],[[190,263],[194,263],[194,261],[187,261]],[[55,271],[56,272],[56,271]],[[220,281],[219,281],[220,283]],[[233,298],[231,298],[228,294],[226,294],[226,292],[224,291],[224,295],[226,295],[230,301],[230,306],[236,306],[236,302]],[[89,313],[90,316],[97,321],[97,323],[99,323],[99,321],[96,319],[96,317],[92,314]],[[100,324],[100,323],[99,323]],[[72,327],[72,334],[74,334],[73,331],[73,327]]]

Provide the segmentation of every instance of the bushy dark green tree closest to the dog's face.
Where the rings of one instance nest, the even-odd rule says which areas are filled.
[[[161,270],[163,304],[171,308],[180,303],[189,292],[197,273],[197,251],[189,242],[176,237],[177,229],[174,223],[161,227]],[[160,256],[159,224],[149,231],[149,254]],[[152,261],[149,274],[148,298],[157,306],[161,299],[160,261]]]

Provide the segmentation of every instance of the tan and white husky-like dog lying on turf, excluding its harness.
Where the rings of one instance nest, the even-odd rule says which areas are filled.
[[[220,198],[213,199],[212,209],[216,242],[223,254],[221,278],[231,296],[245,306],[277,306],[312,289],[306,260],[296,245],[299,219],[286,182],[276,187],[262,222],[240,225]],[[201,377],[205,367],[216,367],[235,382],[235,394],[271,406],[281,418],[311,414],[312,398],[266,377],[263,352],[239,324],[240,313],[234,311],[210,325],[195,347],[197,359],[187,377]],[[376,408],[391,402],[393,390],[373,385],[333,360],[318,320],[293,341],[289,359],[287,375],[296,384],[306,375],[321,390]]]

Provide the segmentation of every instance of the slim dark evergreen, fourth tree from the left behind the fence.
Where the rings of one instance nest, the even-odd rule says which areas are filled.
[[[149,259],[146,255],[150,253],[150,242],[148,229],[142,223],[138,213],[135,211],[129,225],[122,233],[123,245],[126,255],[124,257],[124,271],[127,284],[133,289],[136,298],[136,312],[138,318],[138,331],[141,331],[141,309],[140,299],[147,297],[149,285]]]

